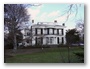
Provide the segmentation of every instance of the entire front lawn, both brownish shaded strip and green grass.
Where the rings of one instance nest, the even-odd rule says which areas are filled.
[[[13,60],[13,62],[15,62],[14,60],[17,61],[17,59],[18,59],[18,62],[19,62],[19,60],[21,60],[21,62],[24,63],[24,61],[22,59],[26,59],[26,58],[32,59],[32,60],[30,60],[30,63],[35,62],[35,61],[38,63],[39,62],[41,62],[41,63],[48,62],[49,63],[49,60],[50,60],[50,63],[51,62],[53,62],[53,63],[54,62],[55,63],[83,63],[82,61],[79,61],[79,59],[82,59],[82,58],[81,57],[78,58],[77,55],[75,54],[75,53],[81,52],[81,51],[83,52],[81,47],[77,47],[77,46],[70,47],[70,48],[64,46],[64,47],[43,48],[43,49],[42,48],[18,49],[16,51],[16,53],[14,53],[12,49],[7,49],[5,52],[6,55],[5,55],[4,59],[5,59],[5,63],[8,63],[9,61],[12,62],[12,60]],[[28,54],[31,54],[31,55],[26,57],[26,56],[24,56],[25,54],[26,54],[26,56]],[[47,55],[47,54],[49,54],[49,55]],[[21,55],[21,57],[18,57],[17,55]],[[24,58],[22,58],[22,56]],[[37,60],[35,58],[37,58]]]

